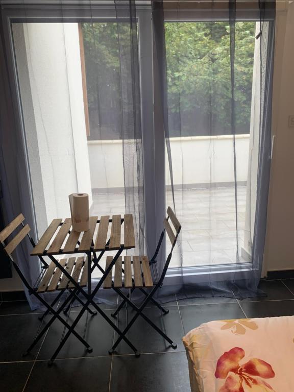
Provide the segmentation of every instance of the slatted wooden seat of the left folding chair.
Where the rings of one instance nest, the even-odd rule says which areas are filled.
[[[68,259],[61,259],[59,263],[81,287],[87,285],[88,262],[84,260],[84,257],[69,257]],[[61,269],[52,261],[37,287],[37,292],[50,292],[65,288],[75,288],[75,285],[69,281]]]

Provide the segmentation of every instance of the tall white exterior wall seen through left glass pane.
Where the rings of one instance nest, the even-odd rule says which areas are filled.
[[[14,25],[13,32],[42,233],[53,218],[70,216],[68,194],[87,192],[92,203],[78,24],[25,23]]]

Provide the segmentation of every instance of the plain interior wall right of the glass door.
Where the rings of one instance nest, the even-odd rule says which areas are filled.
[[[277,2],[273,96],[276,137],[264,251],[267,271],[294,269],[294,128],[288,124],[289,115],[294,115],[293,37],[294,3]]]

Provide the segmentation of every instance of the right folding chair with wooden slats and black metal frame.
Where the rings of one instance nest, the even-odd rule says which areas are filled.
[[[174,230],[171,228],[169,224],[169,219],[171,223],[173,224]],[[113,316],[115,316],[119,310],[124,306],[125,303],[128,303],[131,308],[133,308],[136,311],[136,314],[133,316],[131,321],[128,323],[127,327],[122,331],[121,336],[118,337],[114,345],[112,346],[111,350],[109,351],[110,354],[112,354],[123,338],[125,334],[129,331],[131,326],[134,324],[136,319],[141,316],[144,318],[144,320],[149,323],[165,340],[167,340],[170,344],[170,346],[173,349],[177,348],[177,344],[173,342],[163,331],[161,331],[160,328],[155,325],[149,317],[147,317],[144,313],[143,310],[148,305],[149,302],[152,302],[155,304],[160,310],[163,311],[163,313],[168,313],[167,310],[163,309],[161,305],[154,300],[154,295],[156,291],[162,287],[163,280],[168,268],[168,265],[170,263],[170,259],[173,255],[173,250],[175,247],[175,244],[177,242],[179,233],[181,231],[181,224],[179,220],[177,219],[174,211],[168,207],[167,209],[167,218],[164,218],[164,229],[160,235],[160,239],[158,241],[158,245],[155,251],[154,256],[152,259],[149,261],[147,256],[142,256],[141,260],[139,256],[133,256],[133,259],[131,260],[130,256],[125,256],[124,261],[122,261],[122,257],[120,257],[117,262],[115,263],[115,271],[114,271],[114,281],[112,280],[112,271],[108,274],[104,281],[104,288],[113,288],[118,295],[123,299],[119,307],[117,308],[116,312],[113,313]],[[152,279],[152,274],[151,274],[151,268],[153,265],[156,266],[156,257],[158,255],[159,249],[161,247],[164,234],[165,232],[168,234],[169,240],[171,242],[171,250],[167,256],[166,262],[164,264],[163,271],[161,273],[161,276],[157,280]],[[107,266],[111,263],[112,257],[108,256],[106,259],[106,268]],[[132,277],[132,267],[131,265],[133,264],[133,271],[134,271],[134,277]],[[122,268],[122,265],[124,265],[124,268]],[[122,281],[122,273],[124,273],[124,280]],[[158,272],[157,269],[154,272],[155,277],[158,277]],[[150,288],[151,291],[148,292],[146,291],[145,288]],[[136,306],[131,300],[130,300],[130,293],[126,296],[124,292],[120,290],[120,288],[129,288],[131,292],[133,292],[136,288],[140,289],[144,295],[145,299],[142,302],[142,304],[138,307]]]

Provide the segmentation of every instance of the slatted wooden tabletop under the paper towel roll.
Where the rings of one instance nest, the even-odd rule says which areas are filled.
[[[124,222],[124,229],[121,224]],[[111,228],[110,237],[108,227]],[[71,230],[71,219],[53,219],[52,223],[36,244],[31,255],[45,256],[58,254],[87,253],[91,251],[109,251],[135,248],[134,222],[132,214],[125,214],[121,219],[120,215],[105,215],[99,217],[90,216],[89,230],[76,232]],[[97,231],[96,231],[97,229]],[[94,233],[97,232],[94,238]],[[68,234],[70,232],[70,234]],[[55,235],[56,234],[56,235]],[[122,234],[124,240],[122,240]],[[54,239],[53,236],[55,235]],[[79,238],[81,236],[80,241]],[[48,244],[51,245],[48,247]],[[109,244],[108,244],[109,241]],[[64,248],[62,248],[65,242]],[[124,243],[125,242],[125,243]],[[47,248],[48,247],[48,248]]]

